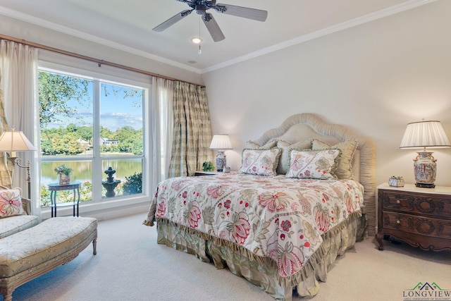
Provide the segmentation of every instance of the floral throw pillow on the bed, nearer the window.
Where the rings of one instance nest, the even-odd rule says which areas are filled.
[[[280,149],[243,149],[240,173],[274,176],[279,163]]]

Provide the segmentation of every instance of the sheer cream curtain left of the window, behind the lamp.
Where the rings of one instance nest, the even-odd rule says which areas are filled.
[[[32,144],[39,149],[36,141],[37,130],[37,49],[25,44],[0,39],[0,75],[1,90],[4,97],[4,113],[10,128],[22,131]],[[40,204],[37,200],[39,191],[39,166],[33,164],[37,152],[19,152],[21,164],[28,161],[32,166],[32,214],[40,214]],[[22,188],[27,196],[27,171],[25,168],[15,168],[13,186]],[[36,191],[34,193],[34,191]]]

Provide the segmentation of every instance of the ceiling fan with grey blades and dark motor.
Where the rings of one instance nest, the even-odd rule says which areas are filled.
[[[210,8],[213,8],[215,11],[218,11],[219,13],[226,13],[227,15],[257,20],[257,21],[264,21],[266,20],[266,17],[268,16],[267,11],[262,11],[261,9],[255,9],[255,8],[247,8],[242,6],[235,6],[235,5],[229,5],[229,4],[216,4],[216,0],[177,0],[180,2],[183,2],[190,6],[191,9],[187,9],[185,11],[181,11],[177,15],[173,16],[172,18],[169,18],[168,20],[164,21],[160,25],[154,27],[152,30],[156,32],[162,32],[163,30],[166,30],[166,28],[174,25],[178,21],[182,20],[186,16],[188,16],[192,11],[196,11],[198,15],[202,16],[202,20],[204,21],[204,24],[206,26],[206,29],[209,30],[211,37],[213,38],[214,42],[219,42],[225,39],[223,32],[221,31],[221,28],[219,28],[218,23],[216,23],[216,20],[214,20],[213,15],[211,13],[207,13],[206,11]]]

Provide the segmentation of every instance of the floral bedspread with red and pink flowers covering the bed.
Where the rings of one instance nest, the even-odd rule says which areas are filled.
[[[168,219],[234,242],[278,264],[280,276],[302,269],[321,235],[360,211],[363,187],[354,180],[285,176],[171,178],[159,183],[146,224]]]

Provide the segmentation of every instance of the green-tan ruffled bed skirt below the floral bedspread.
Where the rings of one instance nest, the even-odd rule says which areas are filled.
[[[199,233],[166,219],[156,221],[159,244],[194,254],[202,262],[213,262],[217,269],[228,267],[233,274],[246,278],[276,300],[292,300],[293,293],[300,297],[316,295],[319,291],[318,281],[325,282],[330,264],[353,247],[356,240],[362,239],[365,225],[364,216],[354,214],[323,235],[321,247],[299,273],[281,277],[276,262],[268,257],[256,256],[232,242]]]

